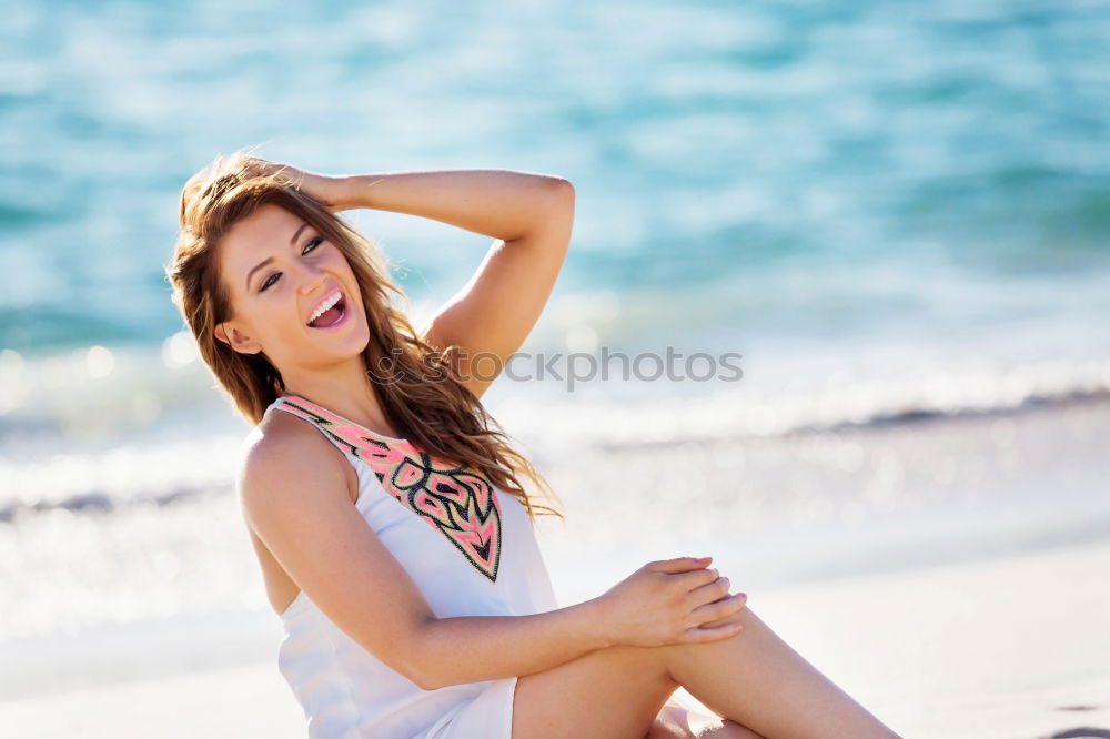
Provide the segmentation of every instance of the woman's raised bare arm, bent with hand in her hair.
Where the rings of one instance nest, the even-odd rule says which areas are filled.
[[[460,347],[463,384],[481,397],[547,304],[571,243],[574,186],[513,170],[325,175],[258,162],[260,173],[282,172],[332,211],[408,213],[496,239],[470,281],[418,330],[436,348]]]

